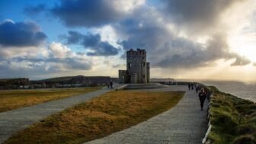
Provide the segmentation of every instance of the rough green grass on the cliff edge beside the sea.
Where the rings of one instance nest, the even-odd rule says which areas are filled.
[[[213,127],[208,138],[213,144],[255,144],[256,104],[210,88],[213,90],[210,107]]]

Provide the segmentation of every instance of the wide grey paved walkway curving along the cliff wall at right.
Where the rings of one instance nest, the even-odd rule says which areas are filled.
[[[170,86],[151,91],[186,91],[184,86]],[[146,90],[149,91],[149,90]],[[206,133],[206,106],[200,110],[200,102],[195,91],[186,91],[184,98],[171,110],[139,123],[129,129],[114,133],[103,139],[86,144],[123,143],[170,143],[199,144]]]

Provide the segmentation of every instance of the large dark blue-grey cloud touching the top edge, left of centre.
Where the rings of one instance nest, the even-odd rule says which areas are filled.
[[[62,0],[50,11],[68,27],[98,27],[122,16],[106,0]]]

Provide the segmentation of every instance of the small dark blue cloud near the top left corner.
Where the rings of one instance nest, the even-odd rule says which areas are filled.
[[[43,11],[46,11],[46,5],[43,5],[43,4],[36,5],[36,6],[26,5],[24,7],[24,13],[30,16],[40,14]]]

